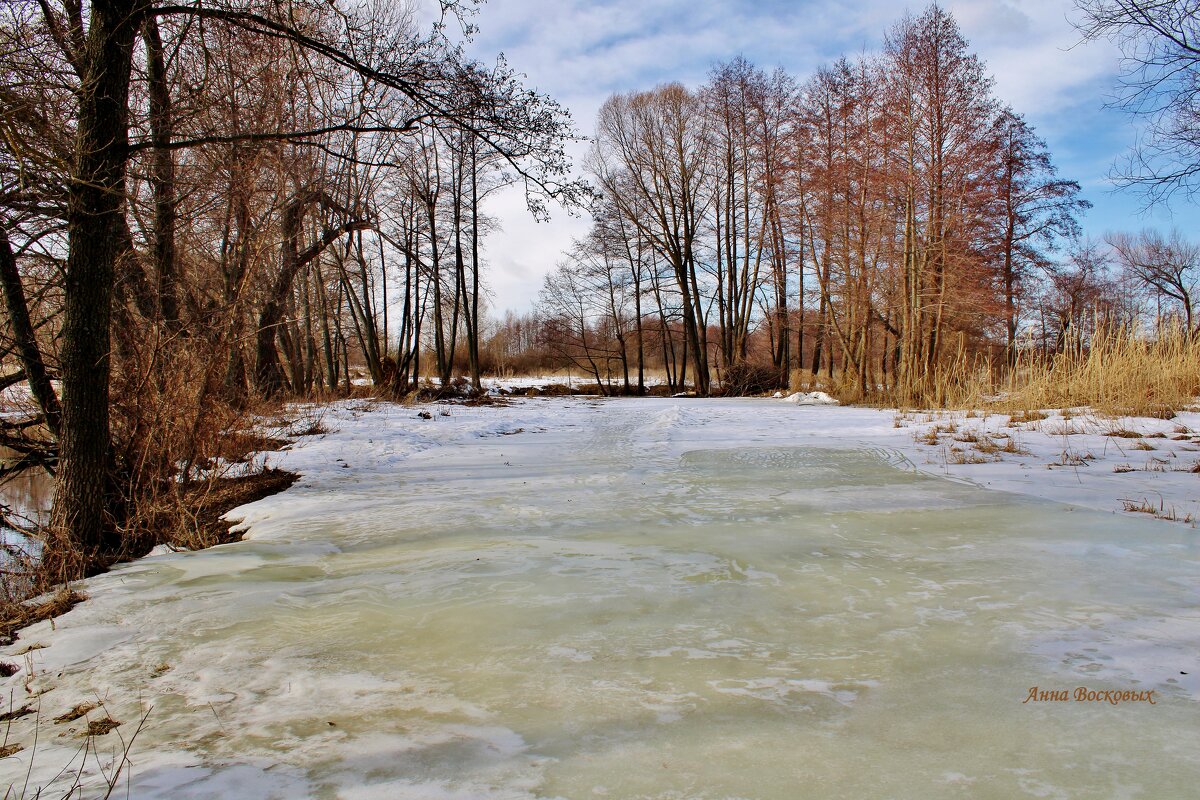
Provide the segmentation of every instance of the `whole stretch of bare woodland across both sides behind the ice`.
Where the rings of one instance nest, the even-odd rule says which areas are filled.
[[[1120,4],[1080,5],[1086,35],[1166,41],[1142,62],[1194,74]],[[617,95],[582,181],[565,110],[464,54],[472,4],[438,6],[5,4],[0,386],[28,401],[0,444],[4,474],[55,483],[44,524],[6,513],[41,542],[18,584],[204,545],[254,421],[349,393],[355,369],[394,398],[570,365],[602,391],[646,391],[648,371],[700,395],[818,377],[919,405],[1169,342],[1200,389],[1195,246],[1081,241],[1078,184],[941,7],[803,82],[736,59],[695,90]],[[1190,174],[1142,176],[1189,194]],[[494,320],[482,207],[511,185],[594,228],[534,312]]]

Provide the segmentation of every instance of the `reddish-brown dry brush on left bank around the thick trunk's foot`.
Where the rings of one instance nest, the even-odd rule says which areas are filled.
[[[295,477],[254,458],[290,438],[262,423],[283,410],[280,401],[232,395],[227,354],[204,337],[139,337],[137,330],[130,325],[114,337],[108,541],[100,552],[80,552],[44,518],[16,519],[0,503],[0,522],[23,534],[0,541],[0,631],[6,620],[24,619],[30,597],[157,545],[199,549],[229,541],[222,513]],[[35,419],[32,409],[17,411]]]

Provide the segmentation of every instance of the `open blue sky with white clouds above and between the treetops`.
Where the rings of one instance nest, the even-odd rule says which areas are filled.
[[[1114,192],[1109,169],[1135,140],[1136,126],[1106,110],[1120,53],[1079,43],[1072,0],[943,0],[996,79],[997,96],[1033,124],[1063,178],[1078,180],[1094,207],[1085,233],[1142,227],[1184,230],[1200,219],[1194,205],[1142,212],[1128,191]],[[490,61],[504,53],[528,85],[571,110],[580,133],[613,92],[679,80],[695,88],[710,67],[744,55],[764,70],[781,66],[804,80],[839,55],[872,53],[884,31],[924,4],[895,0],[490,0],[472,53]],[[572,148],[582,157],[587,145]],[[560,260],[588,221],[556,210],[536,223],[518,191],[491,199],[503,230],[487,240],[493,313],[527,311],[542,276]]]

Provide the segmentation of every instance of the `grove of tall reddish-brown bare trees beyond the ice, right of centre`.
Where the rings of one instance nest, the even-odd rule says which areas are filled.
[[[1196,335],[1200,247],[1081,236],[1090,204],[937,5],[799,80],[744,59],[611,97],[592,231],[506,323],[596,383],[821,384],[937,405],[1019,363]],[[535,331],[530,335],[528,331]],[[521,351],[514,353],[520,357]]]

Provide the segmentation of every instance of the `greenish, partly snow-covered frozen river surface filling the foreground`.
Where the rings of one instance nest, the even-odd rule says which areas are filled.
[[[928,474],[877,411],[415,411],[25,631],[0,789],[101,796],[149,712],[114,796],[1196,796],[1192,528]]]

